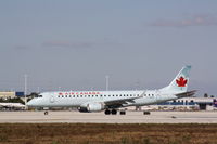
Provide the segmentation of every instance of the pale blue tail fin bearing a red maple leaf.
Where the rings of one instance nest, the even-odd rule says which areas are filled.
[[[175,79],[169,83],[169,86],[163,88],[162,90],[173,91],[173,92],[187,92],[189,86],[190,70],[191,70],[190,65],[184,66],[175,77]]]

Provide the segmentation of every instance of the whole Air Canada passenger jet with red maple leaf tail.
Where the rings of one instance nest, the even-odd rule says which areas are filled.
[[[79,112],[101,112],[116,115],[117,109],[144,106],[192,96],[196,90],[187,91],[191,66],[182,67],[175,79],[158,90],[139,91],[55,91],[43,92],[27,103],[28,107],[77,107]],[[125,115],[125,110],[119,112]],[[44,113],[48,115],[48,112]]]

